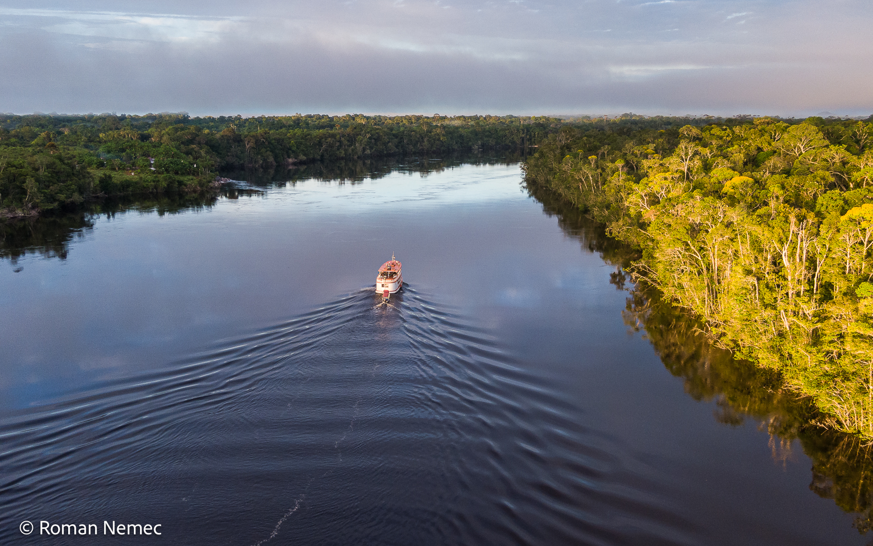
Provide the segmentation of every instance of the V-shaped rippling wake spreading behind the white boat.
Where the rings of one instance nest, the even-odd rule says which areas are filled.
[[[695,543],[551,379],[428,294],[380,297],[7,415],[0,542],[53,518],[171,543]]]

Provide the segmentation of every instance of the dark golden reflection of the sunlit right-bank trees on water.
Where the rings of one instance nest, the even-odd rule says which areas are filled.
[[[700,321],[663,301],[655,289],[626,287],[624,271],[638,259],[632,249],[608,238],[602,225],[551,191],[528,191],[543,204],[546,214],[558,217],[567,235],[580,238],[583,248],[600,253],[604,261],[616,266],[610,282],[629,291],[622,311],[625,324],[644,332],[664,367],[684,379],[689,396],[714,402],[714,417],[719,423],[757,423],[770,435],[773,460],[780,465],[793,460],[792,448],[799,445],[813,461],[809,488],[833,499],[846,512],[857,514],[855,526],[860,532],[873,530],[873,446],[817,425],[821,415],[807,399],[784,389],[778,373],[735,360],[730,351],[715,347]]]

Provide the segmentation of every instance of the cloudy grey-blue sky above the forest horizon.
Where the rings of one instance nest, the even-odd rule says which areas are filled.
[[[0,0],[0,112],[867,115],[871,27],[870,0]]]

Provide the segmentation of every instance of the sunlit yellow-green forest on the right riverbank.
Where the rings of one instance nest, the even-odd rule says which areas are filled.
[[[873,440],[873,116],[602,125],[549,135],[526,184],[634,248],[622,275],[778,374],[813,425]]]

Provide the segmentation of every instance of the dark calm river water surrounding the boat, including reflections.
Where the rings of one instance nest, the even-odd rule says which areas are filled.
[[[0,543],[867,543],[869,448],[519,163],[340,167],[2,228]]]

